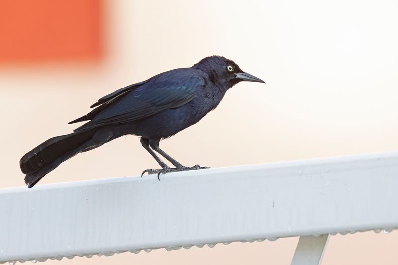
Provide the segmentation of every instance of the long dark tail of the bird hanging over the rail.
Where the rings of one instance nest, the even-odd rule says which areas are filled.
[[[26,185],[29,188],[33,187],[42,177],[65,160],[79,152],[96,148],[109,141],[111,135],[105,136],[103,133],[98,135],[97,132],[97,129],[92,129],[56,136],[26,153],[19,161],[22,172],[26,174]]]

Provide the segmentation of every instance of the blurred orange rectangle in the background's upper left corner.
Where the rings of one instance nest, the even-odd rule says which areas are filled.
[[[99,59],[103,53],[100,0],[0,2],[0,61]]]

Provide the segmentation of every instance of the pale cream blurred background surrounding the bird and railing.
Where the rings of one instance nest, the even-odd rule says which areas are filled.
[[[0,187],[23,185],[19,158],[69,133],[75,125],[67,122],[101,96],[214,54],[267,84],[235,86],[199,124],[163,141],[161,147],[183,164],[222,167],[398,150],[397,13],[394,0],[108,1],[107,55],[99,65],[0,66]],[[40,183],[138,175],[156,166],[138,137],[129,136],[79,154]],[[296,242],[47,263],[288,264]],[[333,236],[323,264],[397,264],[397,242],[397,232]]]

